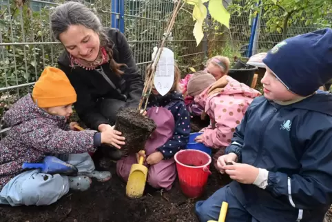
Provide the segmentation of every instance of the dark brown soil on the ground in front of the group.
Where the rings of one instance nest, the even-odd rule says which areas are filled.
[[[113,174],[110,181],[94,181],[90,190],[70,192],[50,206],[12,208],[1,205],[0,221],[198,222],[194,214],[197,200],[187,199],[180,192],[178,181],[169,192],[147,187],[142,199],[132,200],[125,196],[125,183],[116,176],[114,163],[110,170]],[[220,174],[212,171],[201,199],[206,199],[225,183]]]

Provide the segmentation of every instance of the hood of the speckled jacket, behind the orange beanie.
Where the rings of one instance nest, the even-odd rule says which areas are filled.
[[[25,121],[37,118],[48,118],[56,121],[65,121],[65,117],[53,116],[39,108],[32,101],[31,94],[27,94],[12,105],[12,107],[4,114],[3,121],[6,125],[12,127]]]

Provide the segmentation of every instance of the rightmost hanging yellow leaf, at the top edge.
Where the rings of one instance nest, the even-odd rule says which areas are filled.
[[[231,18],[231,14],[229,14],[226,8],[222,5],[222,1],[210,0],[209,12],[212,18],[216,19],[218,22],[222,23],[222,25],[229,28],[229,19]]]

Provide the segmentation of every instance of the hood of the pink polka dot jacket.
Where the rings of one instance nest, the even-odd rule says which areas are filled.
[[[195,103],[198,103],[198,105],[200,105],[202,108],[206,108],[207,101],[220,94],[240,94],[244,97],[252,99],[261,95],[260,92],[250,88],[248,85],[245,85],[245,83],[240,83],[239,81],[229,76],[223,76],[222,78],[218,79],[216,83],[210,85],[201,94],[195,97],[194,101]]]

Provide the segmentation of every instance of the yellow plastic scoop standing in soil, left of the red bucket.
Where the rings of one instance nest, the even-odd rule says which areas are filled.
[[[145,153],[143,151],[143,153]],[[144,157],[140,157],[138,164],[133,164],[130,169],[126,187],[126,194],[130,198],[140,198],[143,196],[145,183],[147,181],[147,167],[143,165]]]

